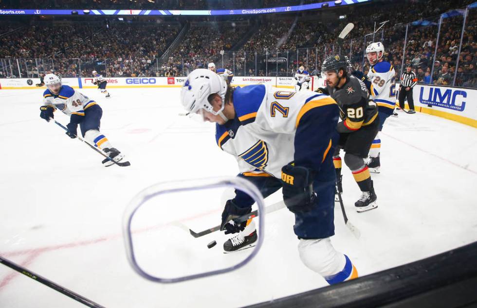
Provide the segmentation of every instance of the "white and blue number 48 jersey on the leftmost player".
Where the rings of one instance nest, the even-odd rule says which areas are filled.
[[[61,110],[65,115],[84,116],[85,110],[96,102],[76,92],[71,86],[61,86],[58,95],[47,89],[43,93],[43,104]]]

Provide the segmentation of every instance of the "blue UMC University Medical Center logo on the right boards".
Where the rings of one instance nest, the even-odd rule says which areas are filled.
[[[422,104],[463,111],[465,108],[465,102],[463,99],[466,97],[467,92],[463,90],[422,86],[419,95],[419,102]]]

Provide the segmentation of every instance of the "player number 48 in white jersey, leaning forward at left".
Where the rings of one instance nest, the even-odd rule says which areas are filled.
[[[65,115],[70,116],[66,132],[68,137],[76,138],[79,124],[81,134],[86,140],[101,149],[114,161],[125,163],[124,155],[113,148],[108,138],[99,132],[100,120],[103,115],[101,107],[87,96],[76,92],[71,86],[63,86],[55,74],[47,74],[44,81],[47,89],[43,93],[40,117],[49,122],[54,118],[53,112],[59,109]],[[107,158],[102,163],[106,167],[114,164]]]

